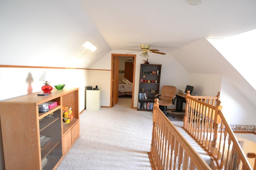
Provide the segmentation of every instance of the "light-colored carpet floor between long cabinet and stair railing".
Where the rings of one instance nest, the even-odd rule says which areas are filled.
[[[129,98],[112,108],[84,111],[80,138],[57,170],[151,170],[151,136],[152,112],[131,109]]]

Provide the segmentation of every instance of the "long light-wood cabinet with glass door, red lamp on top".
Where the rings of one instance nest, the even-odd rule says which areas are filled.
[[[38,92],[42,93],[42,92]],[[6,170],[56,169],[79,137],[78,88],[53,90],[0,101],[0,117]],[[45,102],[57,106],[39,112]],[[63,125],[62,106],[72,107],[74,119]]]

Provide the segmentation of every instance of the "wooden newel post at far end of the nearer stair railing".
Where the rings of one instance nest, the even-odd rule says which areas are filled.
[[[152,128],[152,139],[151,139],[151,148],[150,148],[150,152],[151,154],[154,152],[154,150],[156,150],[156,119],[157,119],[157,115],[156,115],[156,107],[159,108],[159,99],[155,98],[154,99],[154,107],[153,107],[153,128]]]

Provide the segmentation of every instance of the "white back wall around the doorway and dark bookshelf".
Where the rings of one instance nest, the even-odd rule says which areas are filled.
[[[112,50],[110,53],[102,57],[98,62],[93,64],[90,69],[109,69],[111,70],[111,54],[125,54],[130,51],[120,51],[120,50]],[[135,66],[135,82],[134,82],[134,107],[138,105],[138,87],[139,87],[139,76],[140,76],[140,64],[144,64],[143,59],[139,56],[140,53],[136,54],[136,66]],[[161,80],[160,80],[160,91],[162,86],[164,85],[172,85],[176,86],[177,88],[186,87],[189,83],[189,73],[188,71],[174,58],[172,55],[167,53],[166,55],[158,55],[154,53],[149,53],[148,61],[150,64],[162,64],[162,71],[161,71]],[[144,59],[145,60],[145,59]],[[108,87],[111,84],[110,76],[108,70],[103,70],[101,74],[97,73],[96,70],[90,70],[90,75],[97,75],[97,76],[90,76],[90,82],[100,83],[102,82],[100,78],[103,76],[109,76],[109,79],[105,79],[104,77],[104,86]],[[99,88],[102,88],[99,86]],[[102,96],[102,106],[110,106],[110,88],[106,89],[106,96]],[[106,104],[106,105],[103,105]],[[107,105],[108,104],[108,105]],[[168,107],[170,109],[176,108],[175,105]]]

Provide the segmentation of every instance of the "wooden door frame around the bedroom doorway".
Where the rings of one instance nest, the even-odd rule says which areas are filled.
[[[115,57],[133,57],[133,76],[132,76],[132,106],[134,108],[134,85],[135,85],[135,70],[136,70],[136,55],[133,54],[111,54],[111,85],[110,85],[110,107],[113,107],[113,77],[114,77],[114,58]]]

